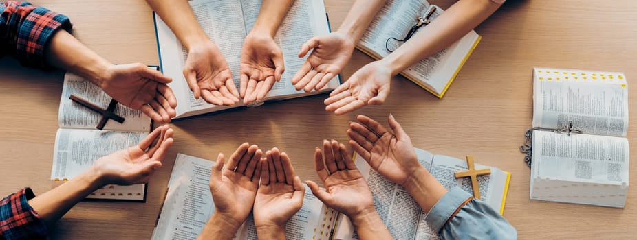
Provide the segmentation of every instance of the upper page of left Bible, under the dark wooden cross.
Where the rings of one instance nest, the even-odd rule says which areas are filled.
[[[60,128],[96,129],[100,119],[102,119],[102,115],[98,112],[94,112],[69,99],[70,95],[76,95],[92,104],[100,106],[102,109],[106,109],[111,103],[111,99],[113,99],[95,84],[73,73],[66,73],[64,75],[64,86],[62,88],[60,109],[58,111]],[[128,132],[151,131],[151,118],[144,115],[142,111],[118,104],[114,112],[116,115],[125,119],[124,123],[118,123],[109,119],[104,130]]]

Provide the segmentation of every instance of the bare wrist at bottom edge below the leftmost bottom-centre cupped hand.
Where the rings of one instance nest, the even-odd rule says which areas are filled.
[[[242,223],[235,221],[235,219],[214,213],[197,239],[233,239],[241,224]]]

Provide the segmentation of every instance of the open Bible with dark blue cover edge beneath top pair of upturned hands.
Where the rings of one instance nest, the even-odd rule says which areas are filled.
[[[238,90],[241,47],[246,35],[252,29],[252,25],[257,21],[261,0],[195,0],[188,3],[193,9],[199,25],[208,34],[208,38],[224,54]],[[340,84],[340,76],[336,76],[321,91],[310,93],[305,93],[303,90],[296,91],[292,85],[294,73],[301,68],[306,59],[296,55],[299,53],[301,45],[314,36],[330,32],[330,24],[327,22],[326,16],[322,0],[294,1],[274,38],[283,51],[285,72],[281,75],[281,80],[275,83],[270,93],[266,95],[266,101],[323,93]],[[183,75],[188,51],[157,14],[154,14],[154,18],[162,72],[173,78],[173,82],[169,86],[177,97],[177,117],[175,118],[244,106],[244,104],[215,106],[208,104],[202,98],[195,99]],[[263,102],[251,105],[258,106],[259,104],[263,104]]]

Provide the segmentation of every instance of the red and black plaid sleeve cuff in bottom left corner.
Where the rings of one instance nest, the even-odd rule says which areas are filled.
[[[28,202],[33,197],[25,188],[0,201],[0,239],[46,239],[47,226]]]

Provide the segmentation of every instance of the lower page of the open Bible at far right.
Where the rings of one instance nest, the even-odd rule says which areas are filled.
[[[628,184],[628,139],[533,131],[532,176],[598,184]]]

